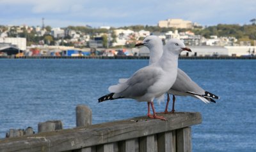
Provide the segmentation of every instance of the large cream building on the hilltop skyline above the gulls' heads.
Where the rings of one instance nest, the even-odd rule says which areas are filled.
[[[193,23],[189,20],[182,19],[167,19],[160,20],[158,22],[159,27],[174,27],[177,29],[191,29],[193,28]]]

